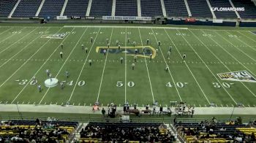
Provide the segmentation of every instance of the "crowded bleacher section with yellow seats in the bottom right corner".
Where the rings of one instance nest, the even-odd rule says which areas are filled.
[[[178,134],[186,142],[255,142],[256,128],[230,121],[217,123],[207,120],[200,123],[176,123]]]

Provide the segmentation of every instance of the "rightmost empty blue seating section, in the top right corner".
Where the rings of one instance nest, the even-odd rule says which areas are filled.
[[[238,11],[241,18],[256,18],[256,6],[251,0],[233,0],[235,7],[244,7],[244,11]]]

